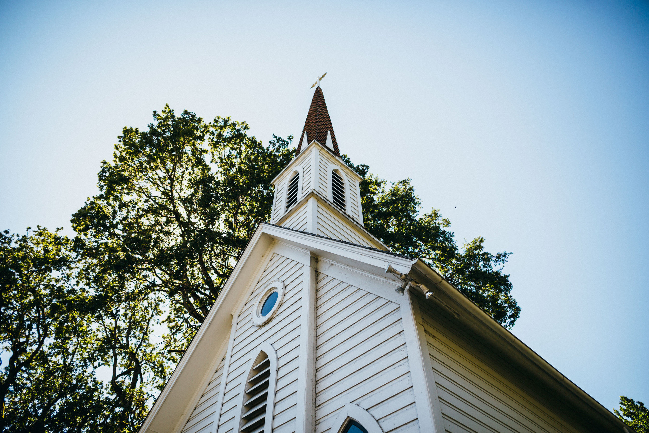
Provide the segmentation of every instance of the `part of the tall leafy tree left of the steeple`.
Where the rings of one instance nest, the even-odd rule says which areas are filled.
[[[101,257],[97,272],[169,299],[169,348],[182,350],[269,216],[270,180],[291,160],[292,137],[264,147],[245,122],[206,123],[168,105],[153,117],[147,131],[124,128],[113,161],[102,163],[99,195],[72,224],[84,258]]]

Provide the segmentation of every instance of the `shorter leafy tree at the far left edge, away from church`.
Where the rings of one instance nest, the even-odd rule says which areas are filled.
[[[70,250],[41,227],[0,233],[0,432],[77,432],[101,411]]]

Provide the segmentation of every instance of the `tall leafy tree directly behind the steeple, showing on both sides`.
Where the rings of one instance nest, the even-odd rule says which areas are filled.
[[[214,304],[258,223],[270,216],[271,180],[291,160],[286,140],[267,145],[230,118],[206,122],[165,106],[149,130],[126,127],[112,162],[103,162],[98,195],[73,215],[77,245],[97,272],[122,275],[169,300],[167,349],[182,351]],[[367,229],[398,253],[419,256],[497,321],[511,328],[520,308],[502,272],[509,253],[484,251],[476,238],[458,248],[448,219],[419,216],[410,179],[364,180]],[[99,259],[101,257],[101,259]]]

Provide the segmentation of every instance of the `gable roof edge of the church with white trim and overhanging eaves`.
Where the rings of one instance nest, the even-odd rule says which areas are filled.
[[[217,301],[151,408],[140,433],[175,433],[182,427],[178,424],[184,419],[183,414],[191,410],[191,402],[197,393],[202,391],[201,384],[214,373],[210,369],[230,336],[232,319],[234,314],[238,314],[235,309],[238,308],[241,297],[247,293],[249,285],[254,284],[252,279],[263,264],[262,258],[270,251],[275,241],[301,247],[323,258],[347,258],[361,271],[377,276],[384,275],[386,280],[393,280],[395,286],[398,286],[401,280],[391,274],[384,274],[383,271],[387,264],[391,264],[417,282],[435,288],[434,295],[423,302],[435,303],[442,310],[448,311],[455,317],[458,326],[478,336],[485,345],[497,351],[499,358],[504,362],[532,378],[538,384],[539,390],[550,391],[557,401],[567,405],[568,410],[579,412],[576,419],[583,425],[592,425],[595,430],[621,433],[626,428],[633,431],[421,259],[270,223],[260,223],[239,256]],[[306,254],[304,260],[309,266],[309,254]],[[423,299],[419,293],[413,295]]]

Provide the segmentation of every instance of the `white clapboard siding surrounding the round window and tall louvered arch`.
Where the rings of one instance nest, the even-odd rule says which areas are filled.
[[[304,282],[302,264],[273,253],[262,277],[250,293],[241,314],[232,345],[221,419],[218,433],[237,432],[236,413],[243,399],[239,395],[241,383],[247,377],[249,361],[257,356],[262,341],[273,345],[278,358],[278,374],[275,397],[273,430],[295,431],[295,408],[297,404],[297,353],[300,343],[300,308]],[[284,280],[286,293],[275,317],[263,327],[251,323],[252,308],[260,292],[272,280]],[[280,411],[280,412],[278,412]],[[278,427],[280,429],[278,430]],[[293,428],[293,430],[291,430]]]

